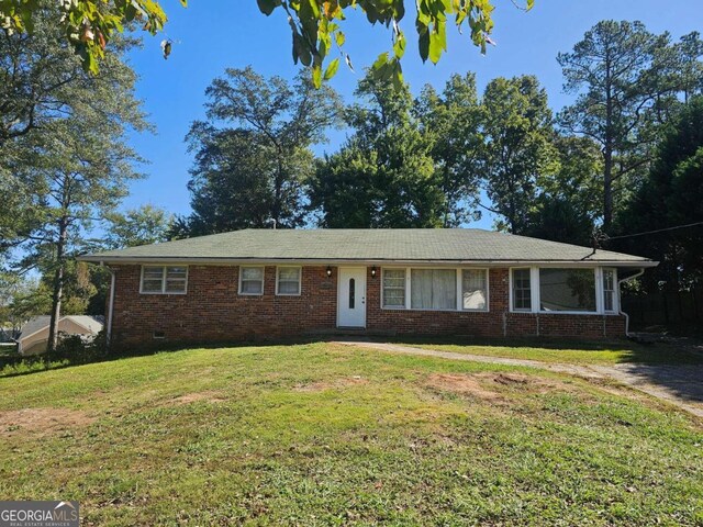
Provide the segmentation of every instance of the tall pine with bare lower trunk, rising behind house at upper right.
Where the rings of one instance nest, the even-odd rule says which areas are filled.
[[[602,21],[571,53],[559,54],[565,90],[578,94],[560,113],[560,124],[602,148],[605,229],[618,190],[646,173],[659,125],[678,104],[676,96],[695,89],[701,51],[698,34],[671,46],[668,34],[654,35],[640,22]]]

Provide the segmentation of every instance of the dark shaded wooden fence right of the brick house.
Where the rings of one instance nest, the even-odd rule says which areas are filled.
[[[661,293],[623,293],[623,311],[636,325],[703,324],[703,288]]]

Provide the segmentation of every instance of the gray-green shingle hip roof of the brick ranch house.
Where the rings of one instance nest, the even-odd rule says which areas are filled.
[[[607,261],[646,258],[477,228],[245,229],[88,255],[87,261]]]

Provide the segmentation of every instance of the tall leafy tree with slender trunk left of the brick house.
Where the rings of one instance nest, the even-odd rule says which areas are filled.
[[[18,248],[22,255],[16,266],[52,277],[53,349],[70,255],[92,222],[111,212],[125,195],[126,182],[138,176],[133,168],[138,158],[126,146],[125,134],[130,128],[144,130],[146,124],[133,94],[135,75],[121,60],[133,43],[113,41],[102,75],[88,76],[55,26],[56,10],[42,5],[42,16],[34,21],[42,31],[30,36],[5,35],[0,44],[8,54],[3,64],[22,71],[9,77],[14,83],[4,87],[0,119],[8,123],[12,115],[20,115],[27,124],[4,127],[20,133],[5,134],[1,148],[10,155],[0,160],[0,176],[10,173],[11,181],[21,186],[20,205],[29,205],[30,211],[20,225],[7,222],[10,228],[5,232],[12,237],[3,240],[5,247]],[[53,87],[44,91],[54,102],[32,98],[27,102],[23,94],[43,86]],[[23,104],[30,110],[18,112]],[[0,216],[7,220],[12,212]]]

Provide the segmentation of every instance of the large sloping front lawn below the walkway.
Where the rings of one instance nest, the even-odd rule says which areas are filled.
[[[701,525],[701,423],[623,394],[330,344],[70,367],[0,379],[0,495],[116,526]],[[46,408],[90,422],[11,423]]]

